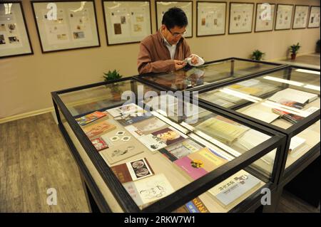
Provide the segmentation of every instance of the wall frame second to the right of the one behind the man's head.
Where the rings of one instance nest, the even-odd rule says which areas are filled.
[[[251,33],[254,3],[230,2],[228,33]]]

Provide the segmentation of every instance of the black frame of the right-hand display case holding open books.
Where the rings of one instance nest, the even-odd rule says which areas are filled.
[[[285,68],[278,68],[277,70],[273,70],[273,72],[285,70],[285,75],[287,76],[287,80],[289,80],[292,68],[313,70],[313,71],[320,72],[320,70],[317,70],[315,68],[300,67],[300,66],[295,66],[295,65],[287,65]],[[210,87],[201,88],[200,90],[198,90],[198,93],[205,93],[210,90],[215,90],[217,88],[224,87],[226,85],[232,85],[234,83],[249,80],[251,78],[258,78],[262,75],[267,75],[269,73],[271,73],[271,72],[265,71],[263,73],[257,73],[256,75],[250,75],[247,78],[239,78],[238,80],[228,81],[225,83],[221,83],[220,85],[212,85]],[[255,119],[255,118],[250,117],[248,115],[245,115],[241,112],[235,111],[235,109],[238,109],[242,106],[235,106],[234,108],[229,109],[226,107],[222,107],[220,105],[216,105],[216,104],[209,102],[207,100],[203,100],[201,98],[199,99],[199,102],[209,105],[209,106],[213,107],[213,109],[219,108],[220,110],[227,111],[230,114],[238,115],[239,117],[250,120],[250,121],[255,122],[259,125],[263,125],[264,127],[269,127],[270,129],[280,132],[282,134],[285,134],[287,137],[287,142],[285,144],[285,150],[289,149],[290,141],[291,141],[292,137],[294,137],[296,134],[302,132],[303,130],[307,129],[307,127],[310,127],[312,124],[314,124],[318,120],[320,120],[320,109],[319,109],[316,112],[309,115],[308,117],[305,117],[305,119],[301,120],[300,122],[297,122],[295,125],[292,125],[292,127],[289,127],[285,130],[285,129],[282,129],[281,127],[271,125],[267,122],[263,122],[261,120]],[[243,103],[243,106],[245,106],[245,105],[246,104]],[[293,192],[293,194],[299,196],[301,199],[307,201],[308,203],[312,204],[313,206],[316,206],[316,207],[319,206],[319,204],[320,204],[320,181],[318,181],[317,184],[315,184],[315,182],[313,182],[313,180],[310,179],[309,184],[312,184],[312,182],[313,182],[315,186],[313,187],[313,189],[311,189],[311,187],[309,187],[309,189],[307,189],[307,185],[308,185],[306,183],[307,177],[304,177],[304,176],[309,176],[309,174],[314,173],[316,176],[315,178],[320,179],[320,142],[318,144],[316,144],[314,147],[312,147],[309,152],[307,152],[302,157],[300,157],[300,159],[298,159],[290,167],[287,167],[287,169],[285,169],[285,164],[287,162],[288,152],[284,152],[283,154],[285,155],[285,157],[283,157],[283,159],[282,159],[282,168],[280,171],[279,181],[277,182],[279,196],[282,194],[282,189],[290,181],[294,180],[290,184],[292,186],[289,185],[286,188],[289,191]],[[310,164],[312,164],[311,168],[309,167]],[[316,168],[319,169],[319,171],[316,172],[315,171]],[[297,179],[295,179],[296,177],[297,177]],[[309,190],[310,192],[308,192],[307,190]]]

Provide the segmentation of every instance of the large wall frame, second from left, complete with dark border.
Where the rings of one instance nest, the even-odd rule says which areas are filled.
[[[41,51],[100,46],[94,1],[31,1]]]

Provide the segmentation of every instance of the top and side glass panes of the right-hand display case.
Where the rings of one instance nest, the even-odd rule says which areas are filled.
[[[290,134],[285,168],[320,143],[320,71],[288,67],[198,97],[201,102]]]

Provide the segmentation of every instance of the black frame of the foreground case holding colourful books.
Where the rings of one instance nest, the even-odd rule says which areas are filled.
[[[271,136],[270,139],[259,144],[257,147],[250,149],[245,154],[240,155],[240,157],[235,157],[235,159],[231,160],[227,164],[224,164],[222,167],[218,167],[215,171],[211,171],[205,176],[201,177],[193,181],[192,183],[184,186],[178,191],[175,191],[173,194],[161,199],[160,201],[156,201],[156,203],[151,204],[150,206],[143,208],[142,210],[138,208],[136,203],[131,199],[131,196],[127,193],[126,189],[123,188],[122,184],[116,176],[113,174],[113,171],[106,164],[103,158],[98,154],[93,144],[91,144],[90,139],[86,137],[86,134],[81,130],[81,127],[76,122],[75,118],[71,115],[66,105],[61,100],[59,95],[65,93],[71,93],[78,90],[83,90],[86,88],[95,88],[101,85],[108,85],[111,83],[118,83],[123,81],[131,81],[132,90],[135,90],[135,83],[140,83],[140,80],[137,80],[136,77],[130,78],[122,78],[120,80],[114,80],[112,82],[102,82],[102,83],[94,83],[91,85],[84,85],[76,88],[70,88],[66,90],[58,90],[51,93],[52,100],[54,102],[54,109],[56,111],[56,117],[58,120],[58,127],[63,135],[63,138],[66,140],[66,144],[68,144],[68,148],[73,155],[73,158],[78,165],[78,169],[81,173],[81,179],[83,179],[83,187],[86,191],[88,204],[91,206],[92,211],[103,211],[110,212],[111,208],[108,205],[108,202],[104,199],[102,192],[98,188],[96,182],[91,175],[91,171],[89,171],[86,164],[83,162],[80,154],[78,153],[75,145],[73,144],[73,140],[69,136],[66,127],[63,125],[62,120],[66,120],[68,126],[71,128],[73,133],[76,135],[78,142],[80,142],[81,146],[85,150],[88,157],[91,159],[94,167],[103,178],[104,183],[108,186],[113,194],[114,198],[121,206],[124,212],[168,212],[173,211],[175,208],[183,206],[191,199],[195,198],[199,194],[203,194],[205,191],[220,183],[224,179],[227,179],[232,174],[240,171],[240,169],[245,169],[255,162],[256,160],[263,157],[265,154],[270,152],[272,149],[277,149],[275,163],[273,166],[272,176],[269,182],[266,182],[265,187],[269,188],[272,192],[276,191],[278,177],[280,176],[280,162],[282,161],[282,152],[285,150],[285,136],[280,134],[275,130],[270,130],[269,128],[262,127],[261,125],[256,124],[255,122],[250,122],[249,120],[243,119],[242,117],[238,117],[236,115],[230,114],[230,112],[226,112],[220,110],[219,108],[210,107],[208,105],[201,105],[205,110],[210,110],[215,112],[223,117],[228,117],[236,122],[240,122],[243,125],[251,127],[260,132],[269,134]],[[93,110],[94,111],[94,110]],[[246,212],[246,211],[255,211],[258,207],[261,206],[260,198],[263,194],[260,191],[256,191],[255,194],[252,194],[245,199],[242,203],[238,204],[230,210],[230,212]]]

